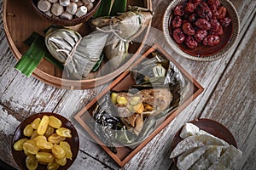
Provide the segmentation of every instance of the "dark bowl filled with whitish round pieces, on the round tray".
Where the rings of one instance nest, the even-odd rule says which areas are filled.
[[[57,26],[75,26],[89,20],[102,0],[30,0],[44,20]]]

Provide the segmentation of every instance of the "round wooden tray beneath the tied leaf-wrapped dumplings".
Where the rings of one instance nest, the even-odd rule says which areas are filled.
[[[152,10],[151,0],[128,0],[127,5],[148,8]],[[89,76],[83,80],[69,80],[62,75],[61,69],[49,63],[47,59],[42,59],[32,76],[38,80],[45,82],[56,88],[66,89],[85,89],[94,88],[103,83],[113,80],[125,71],[137,59],[138,54],[141,53],[144,42],[148,37],[151,22],[143,33],[137,37],[137,42],[130,43],[128,48],[131,58],[126,59],[124,65],[120,65],[118,69],[111,72],[103,71],[106,60],[103,60],[99,71],[90,72]],[[3,1],[3,26],[6,33],[9,46],[15,55],[16,59],[20,59],[22,54],[25,54],[28,46],[24,43],[27,37],[31,36],[32,32],[36,31],[44,35],[45,29],[51,26],[50,23],[42,20],[32,7],[29,1],[5,0]],[[78,31],[82,36],[88,35],[91,30],[87,22],[76,26],[68,26],[75,31]],[[22,34],[20,34],[22,32]],[[106,67],[106,66],[105,66]]]

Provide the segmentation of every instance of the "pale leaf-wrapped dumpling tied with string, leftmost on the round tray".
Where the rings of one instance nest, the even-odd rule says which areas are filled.
[[[45,44],[55,59],[64,65],[70,79],[86,78],[100,59],[108,34],[94,31],[85,37],[67,28],[49,29]]]

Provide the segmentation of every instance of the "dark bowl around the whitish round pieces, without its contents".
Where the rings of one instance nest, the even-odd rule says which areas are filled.
[[[86,20],[89,20],[90,17],[92,17],[92,15],[95,14],[96,9],[99,7],[99,5],[102,2],[102,0],[95,0],[93,3],[93,8],[91,8],[87,14],[84,14],[84,16],[79,18],[73,18],[72,20],[65,20],[65,19],[61,19],[60,17],[50,17],[49,15],[44,14],[44,12],[38,9],[39,0],[29,0],[29,1],[30,3],[32,3],[33,8],[42,19],[57,26],[75,26],[85,22]]]

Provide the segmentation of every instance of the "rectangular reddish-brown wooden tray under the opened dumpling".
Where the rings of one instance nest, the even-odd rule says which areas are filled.
[[[116,161],[120,167],[125,166],[125,163],[127,161],[130,161],[133,156],[137,154],[139,150],[142,150],[142,148],[148,144],[148,142],[154,138],[154,136],[157,133],[160,133],[160,131],[166,127],[172,120],[181,112],[183,109],[189,105],[201,92],[203,91],[203,88],[201,85],[196,82],[194,77],[191,77],[185,69],[177,63],[175,59],[172,58],[169,54],[166,53],[166,51],[161,48],[158,44],[155,44],[152,48],[149,48],[148,51],[143,54],[137,61],[131,65],[130,69],[133,68],[135,65],[139,64],[143,61],[143,59],[146,59],[150,56],[152,52],[158,51],[160,54],[166,57],[166,59],[169,59],[172,61],[174,65],[177,66],[177,69],[183,74],[184,79],[186,79],[188,82],[190,82],[190,85],[193,88],[192,93],[187,93],[187,95],[183,98],[182,103],[177,107],[177,109],[171,111],[169,116],[166,117],[165,121],[160,124],[159,127],[156,127],[155,130],[148,136],[148,138],[144,139],[143,142],[135,149],[131,149],[131,147],[127,146],[120,146],[117,147],[117,154],[113,154],[111,150],[108,149],[108,147],[102,143],[102,140],[96,135],[96,133],[89,127],[89,125],[86,123],[92,115],[92,111],[96,107],[98,99],[101,99],[103,95],[108,94],[110,90],[116,90],[118,88],[128,88],[134,81],[131,81],[131,74],[130,70],[126,70],[123,72],[119,77],[117,77],[107,88],[103,89],[100,94],[96,96],[95,99],[93,99],[88,105],[86,105],[79,113],[77,113],[74,118],[76,121],[79,122],[79,124],[84,127],[84,129],[87,131],[87,133],[90,134],[90,136],[95,139],[97,144],[100,144],[102,146],[102,149],[105,150],[109,156],[113,158],[114,161]],[[124,83],[125,82],[125,83]],[[124,87],[124,85],[126,87]]]

